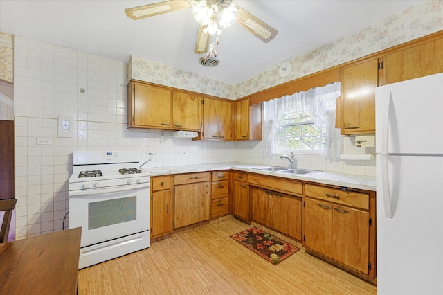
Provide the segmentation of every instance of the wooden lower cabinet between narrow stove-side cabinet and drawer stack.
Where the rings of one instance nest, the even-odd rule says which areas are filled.
[[[174,229],[209,220],[209,172],[174,176]]]

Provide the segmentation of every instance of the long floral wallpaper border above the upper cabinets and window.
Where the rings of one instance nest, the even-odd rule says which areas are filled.
[[[132,55],[128,78],[187,89],[223,98],[242,98],[278,84],[337,66],[359,57],[443,30],[443,0],[423,1],[359,32],[289,60],[292,73],[278,75],[278,66],[253,78],[227,84]]]

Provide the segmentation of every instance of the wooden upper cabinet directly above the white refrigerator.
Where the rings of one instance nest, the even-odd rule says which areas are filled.
[[[385,55],[383,84],[443,72],[443,38]]]

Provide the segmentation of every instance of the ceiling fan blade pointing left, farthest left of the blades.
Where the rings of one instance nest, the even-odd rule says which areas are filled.
[[[189,1],[171,0],[163,1],[144,6],[137,6],[125,9],[126,15],[132,19],[144,19],[145,17],[153,17],[154,15],[163,15],[163,13],[174,12],[190,8]]]

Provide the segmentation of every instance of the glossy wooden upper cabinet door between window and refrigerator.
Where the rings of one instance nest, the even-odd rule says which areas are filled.
[[[345,67],[341,73],[341,133],[375,132],[377,59]]]

